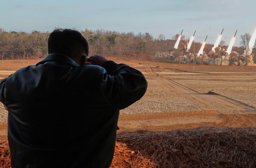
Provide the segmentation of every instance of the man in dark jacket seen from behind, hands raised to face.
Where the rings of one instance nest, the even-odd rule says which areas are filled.
[[[2,80],[11,166],[109,167],[119,109],[146,92],[139,71],[94,55],[78,31],[56,29],[36,65]]]

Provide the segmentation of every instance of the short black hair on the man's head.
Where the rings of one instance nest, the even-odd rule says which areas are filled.
[[[84,47],[86,55],[89,54],[89,46],[83,35],[72,29],[55,29],[48,38],[48,53],[62,53],[70,56],[75,47]]]

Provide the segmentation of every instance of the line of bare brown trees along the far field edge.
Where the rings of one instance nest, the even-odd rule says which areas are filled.
[[[80,31],[89,43],[90,55],[99,54],[104,56],[119,56],[123,58],[155,59],[157,53],[172,53],[173,57],[197,53],[201,43],[194,43],[189,52],[186,50],[186,39],[181,40],[177,50],[173,49],[176,35],[172,39],[166,39],[163,34],[157,38],[149,33],[134,34],[133,32],[120,33],[99,29],[92,31],[85,29]],[[0,28],[0,59],[31,59],[42,58],[48,54],[47,40],[49,32],[33,31],[6,32]],[[205,46],[205,52],[210,52],[213,44]],[[226,49],[227,46],[223,45]],[[244,46],[233,47],[233,51],[240,54],[245,50]],[[253,50],[253,54],[256,51]],[[172,61],[174,61],[173,59]]]

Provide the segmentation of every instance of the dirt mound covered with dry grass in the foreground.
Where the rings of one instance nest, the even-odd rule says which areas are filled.
[[[6,141],[0,154],[10,167]],[[119,133],[113,167],[256,167],[256,127]]]

